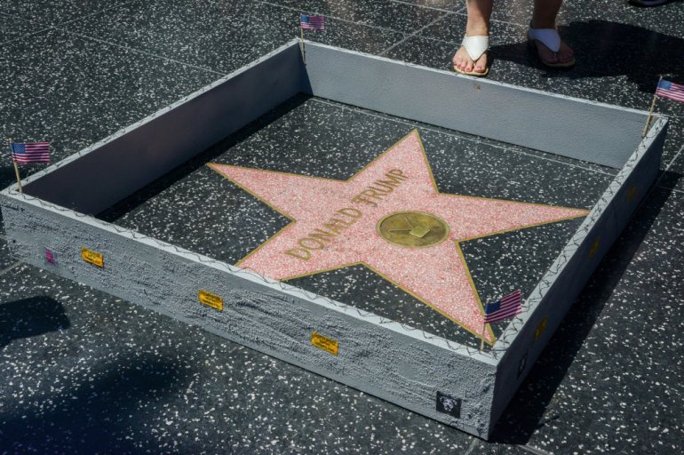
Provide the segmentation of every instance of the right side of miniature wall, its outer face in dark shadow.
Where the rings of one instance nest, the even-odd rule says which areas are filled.
[[[494,350],[502,357],[497,367],[492,421],[496,421],[505,410],[553,332],[599,266],[600,260],[621,234],[656,180],[666,131],[667,120],[656,119],[648,136],[634,151],[623,170],[616,175],[568,246],[530,294],[527,301],[529,312],[509,324],[497,340]],[[545,317],[546,329],[535,339],[535,331]],[[526,368],[518,374],[518,365],[524,355],[527,355]]]

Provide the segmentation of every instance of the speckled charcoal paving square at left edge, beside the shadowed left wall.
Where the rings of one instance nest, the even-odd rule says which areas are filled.
[[[3,138],[52,142],[52,162],[135,123],[211,83],[211,73],[60,30],[14,41],[0,52]],[[11,94],[11,96],[9,96]],[[0,186],[15,180],[0,154]],[[21,175],[44,164],[21,166]]]

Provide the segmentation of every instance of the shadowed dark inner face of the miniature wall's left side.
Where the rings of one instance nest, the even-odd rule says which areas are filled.
[[[219,79],[113,138],[28,180],[28,195],[98,213],[209,148],[268,110],[306,91],[296,43]]]

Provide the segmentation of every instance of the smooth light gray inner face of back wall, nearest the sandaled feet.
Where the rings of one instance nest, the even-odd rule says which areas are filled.
[[[306,44],[306,71],[322,98],[616,168],[647,117],[322,44]]]

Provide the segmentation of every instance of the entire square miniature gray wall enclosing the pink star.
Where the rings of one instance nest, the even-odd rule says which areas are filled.
[[[624,169],[497,341],[496,357],[78,213],[106,209],[297,92]],[[36,173],[26,195],[5,189],[0,205],[18,259],[488,436],[655,178],[666,120],[641,141],[645,117],[321,44],[306,44],[305,67],[293,42]],[[56,264],[45,262],[45,247]],[[103,253],[105,267],[84,262],[81,247]],[[200,290],[221,296],[223,311],[203,306]],[[338,355],[312,346],[313,331],[336,339]],[[460,418],[437,411],[438,393],[462,400]]]

